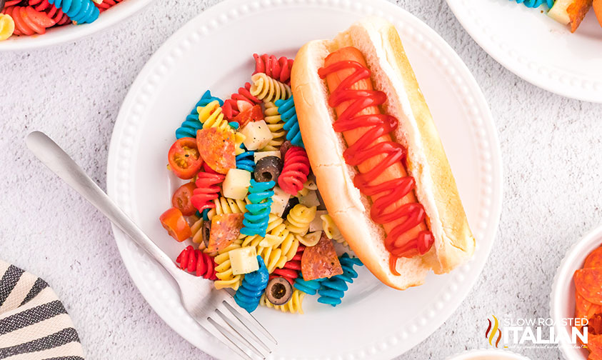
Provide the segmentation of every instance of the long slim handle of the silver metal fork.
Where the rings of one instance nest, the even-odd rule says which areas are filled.
[[[31,132],[25,139],[27,147],[44,165],[48,166],[54,174],[63,179],[81,196],[99,209],[113,224],[124,231],[144,251],[152,256],[171,276],[176,277],[176,266],[159,246],[144,234],[134,221],[131,221],[124,211],[119,209],[113,200],[88,176],[76,162],[71,159],[59,145],[41,131]]]

